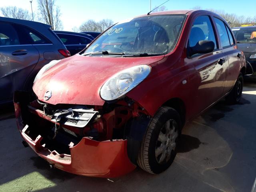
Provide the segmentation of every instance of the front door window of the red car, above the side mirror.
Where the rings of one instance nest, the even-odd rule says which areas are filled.
[[[199,16],[196,18],[190,32],[189,46],[193,47],[201,40],[213,41],[214,49],[217,49],[216,37],[209,16]]]

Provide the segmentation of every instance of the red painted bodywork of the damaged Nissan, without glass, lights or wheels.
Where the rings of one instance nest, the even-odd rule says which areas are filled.
[[[132,108],[128,113],[132,114],[132,117],[138,115],[139,112],[152,117],[160,106],[174,100],[184,104],[184,121],[186,122],[217,102],[231,90],[241,69],[246,66],[244,56],[240,59],[236,57],[238,53],[241,53],[236,45],[222,51],[215,24],[218,50],[188,58],[187,44],[191,26],[197,16],[208,15],[212,20],[213,16],[218,18],[219,16],[202,10],[168,11],[150,15],[158,14],[187,14],[180,38],[172,52],[164,56],[136,58],[77,54],[63,59],[44,72],[43,76],[34,83],[33,90],[38,100],[44,101],[44,94],[51,90],[52,97],[46,101],[47,104],[102,107],[105,101],[100,98],[100,88],[106,80],[126,68],[147,64],[152,68],[148,77],[126,94],[128,98],[134,100],[137,106],[136,110]],[[225,57],[226,52],[232,55],[232,58],[230,60],[227,58],[226,64],[218,65],[218,60]],[[128,106],[126,104],[126,107]],[[33,141],[26,135],[26,130],[22,132],[25,125],[21,124],[18,102],[15,102],[15,108],[22,137],[38,155],[57,168],[75,174],[99,177],[121,176],[135,168],[127,156],[127,140],[97,142],[90,138],[83,138],[79,144],[70,147],[71,162],[60,161],[59,159],[63,158],[64,154],[56,155],[56,152],[49,152],[41,145],[40,136],[38,140]],[[109,114],[114,113],[112,111]],[[121,117],[124,115],[121,114]],[[112,134],[111,131],[110,133]]]

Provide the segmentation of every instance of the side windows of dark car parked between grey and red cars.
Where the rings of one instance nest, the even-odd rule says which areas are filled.
[[[68,34],[61,34],[61,33],[57,33],[57,36],[64,43],[64,45],[87,45],[90,42],[92,42],[92,40],[90,40],[89,38],[82,37],[82,36],[68,35]]]

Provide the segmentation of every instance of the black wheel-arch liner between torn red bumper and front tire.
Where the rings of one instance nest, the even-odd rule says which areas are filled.
[[[128,157],[133,164],[137,164],[140,144],[148,128],[150,120],[150,117],[141,115],[137,118],[133,118],[126,125],[125,139],[127,139],[127,152]]]

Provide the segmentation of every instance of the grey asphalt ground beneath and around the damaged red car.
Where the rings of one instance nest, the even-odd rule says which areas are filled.
[[[12,108],[0,112],[0,192],[250,192],[256,177],[256,83],[240,104],[224,101],[182,130],[174,163],[159,175],[136,168],[115,179],[50,168],[24,148]]]

